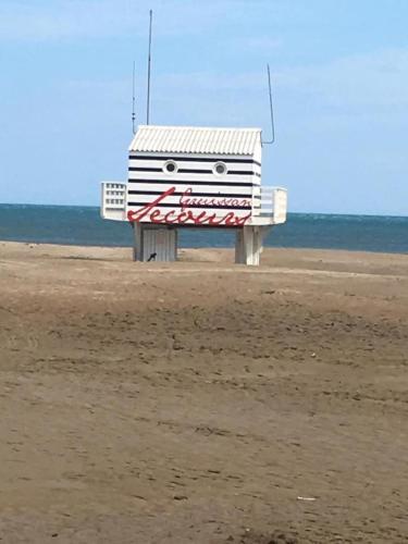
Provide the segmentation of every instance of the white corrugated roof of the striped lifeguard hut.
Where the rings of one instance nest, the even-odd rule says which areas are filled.
[[[129,151],[252,154],[260,140],[260,128],[141,125]]]

